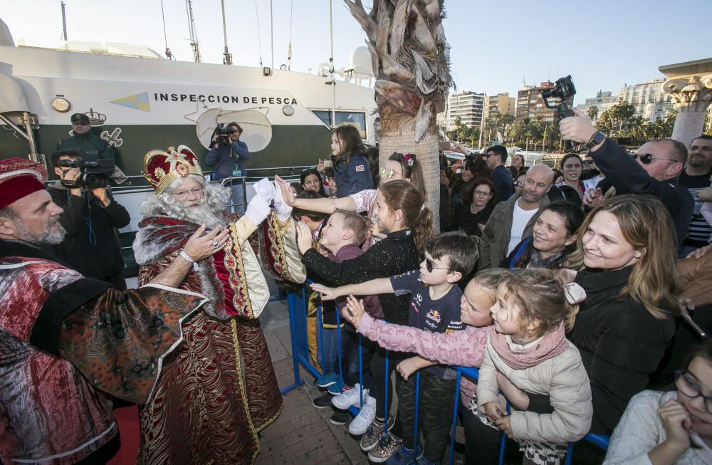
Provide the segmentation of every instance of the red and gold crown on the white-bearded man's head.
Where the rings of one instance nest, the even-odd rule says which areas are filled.
[[[203,176],[195,154],[185,145],[179,145],[176,150],[168,147],[168,152],[151,150],[143,159],[143,175],[156,189],[156,194],[163,191],[172,182],[188,174]]]

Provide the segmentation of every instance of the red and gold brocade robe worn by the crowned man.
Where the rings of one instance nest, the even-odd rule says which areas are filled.
[[[141,283],[162,271],[198,227],[167,216],[147,217],[139,226],[137,257],[142,251],[157,257],[137,258]],[[271,226],[263,230],[271,236],[268,244],[279,239]],[[140,408],[139,463],[251,464],[260,450],[257,433],[281,412],[281,393],[257,319],[266,300],[256,303],[253,294],[266,291],[268,297],[268,290],[261,272],[262,281],[255,274],[246,279],[248,268],[259,271],[250,247],[246,243],[241,249],[231,228],[224,251],[202,261],[199,272],[191,271],[182,284],[210,303],[184,326],[180,352],[165,367],[153,401]],[[284,263],[278,255],[273,262]]]

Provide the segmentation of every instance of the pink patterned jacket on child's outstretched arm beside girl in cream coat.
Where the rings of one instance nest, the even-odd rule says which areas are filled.
[[[431,333],[409,326],[391,325],[374,320],[365,313],[359,323],[359,333],[377,342],[382,348],[399,352],[416,352],[434,362],[465,367],[479,367],[487,345],[489,326],[466,326],[454,333]],[[460,381],[461,401],[468,405],[477,385],[467,377]]]

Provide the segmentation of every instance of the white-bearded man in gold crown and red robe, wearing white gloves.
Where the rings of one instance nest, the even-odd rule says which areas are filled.
[[[275,189],[266,179],[255,184],[244,216],[225,213],[229,189],[206,184],[185,146],[148,152],[143,172],[156,194],[142,205],[133,246],[140,283],[179,256],[201,224],[228,231],[228,241],[196,260],[181,283],[208,302],[183,326],[189,342],[165,366],[157,400],[140,406],[138,463],[252,464],[257,432],[282,409],[258,320],[270,296],[262,268],[284,281],[305,280],[293,219],[279,198],[271,211]],[[261,261],[248,240],[254,231]]]

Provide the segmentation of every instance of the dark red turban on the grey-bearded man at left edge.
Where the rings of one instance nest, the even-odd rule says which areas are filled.
[[[44,189],[47,169],[31,160],[9,158],[0,161],[0,209]]]

